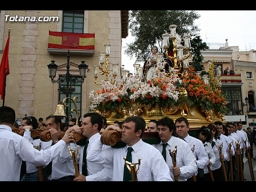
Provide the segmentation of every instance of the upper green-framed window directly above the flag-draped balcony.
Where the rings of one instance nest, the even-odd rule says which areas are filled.
[[[63,11],[62,32],[83,33],[84,11]]]

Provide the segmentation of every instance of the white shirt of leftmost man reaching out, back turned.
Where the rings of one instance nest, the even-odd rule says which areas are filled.
[[[37,150],[24,137],[13,133],[12,128],[0,125],[0,181],[19,181],[22,160],[36,166],[49,164],[65,146],[60,140],[47,150]]]

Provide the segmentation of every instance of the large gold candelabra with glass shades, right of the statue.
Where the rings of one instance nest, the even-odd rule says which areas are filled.
[[[190,56],[190,35],[184,35],[182,38],[184,39],[184,46],[182,45],[178,45],[176,46],[175,40],[176,40],[176,25],[170,25],[170,34],[165,33],[162,34],[162,38],[164,40],[164,50],[165,50],[165,54],[166,57],[169,58],[173,64],[174,64],[174,70],[178,70],[176,72],[176,77],[180,78],[180,77],[186,77],[188,75],[188,57]],[[173,54],[174,56],[169,56],[168,55],[168,49],[170,46],[169,43],[169,38],[172,39],[172,44],[173,44]],[[186,56],[184,56],[183,51],[184,48],[186,50]],[[182,66],[184,68],[184,73],[181,73],[182,70]]]

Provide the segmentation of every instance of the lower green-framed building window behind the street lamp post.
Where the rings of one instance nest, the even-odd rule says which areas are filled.
[[[80,77],[76,77],[78,80],[81,80]],[[66,86],[66,84],[60,84],[60,86]],[[59,88],[60,88],[59,86]],[[82,84],[81,83],[77,83],[75,85],[70,84],[70,87],[74,87],[76,88],[76,90],[69,95],[70,98],[74,98],[75,96],[78,96],[78,100],[75,100],[76,102],[76,106],[77,106],[77,110],[79,113],[79,116],[81,117],[81,106],[82,106],[82,102],[81,102],[81,97],[82,97]],[[62,101],[64,98],[66,98],[66,95],[63,94],[61,91],[59,91],[59,100]],[[65,103],[66,104],[66,103]],[[72,102],[71,99],[68,99],[68,112],[69,112],[69,117],[71,118],[75,118],[76,117],[76,112],[74,110],[74,113],[71,113],[72,109],[75,109],[75,105]],[[65,111],[66,112],[66,111]]]

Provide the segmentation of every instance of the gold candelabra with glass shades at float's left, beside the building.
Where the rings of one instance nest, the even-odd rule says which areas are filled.
[[[106,75],[106,78],[104,79],[105,81],[109,81],[110,79],[108,78],[108,75],[110,74],[111,70],[108,68],[109,67],[109,63],[108,63],[108,57],[110,55],[110,44],[104,44],[105,46],[105,52],[101,51],[99,52],[100,57],[99,59],[99,64],[98,65],[94,65],[94,78],[95,81],[94,83],[97,85],[102,85],[102,83],[98,83],[97,82],[97,78],[100,75]],[[105,60],[105,56],[106,56],[106,60]],[[103,65],[105,63],[105,70],[103,69]],[[113,66],[113,70],[112,70],[112,75],[113,75],[113,79],[110,80],[111,84],[114,84],[116,81],[116,75],[117,75],[117,68],[118,68],[118,64],[117,63],[112,63]]]

